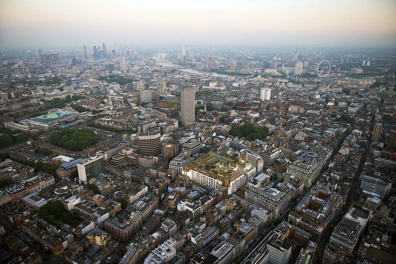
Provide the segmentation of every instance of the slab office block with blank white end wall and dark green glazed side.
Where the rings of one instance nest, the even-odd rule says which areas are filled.
[[[81,184],[86,184],[88,179],[104,172],[103,157],[91,157],[77,163],[78,178]]]

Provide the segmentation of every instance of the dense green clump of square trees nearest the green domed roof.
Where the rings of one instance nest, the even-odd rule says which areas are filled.
[[[99,136],[87,129],[64,129],[55,131],[50,137],[51,144],[71,151],[81,151],[99,142]]]

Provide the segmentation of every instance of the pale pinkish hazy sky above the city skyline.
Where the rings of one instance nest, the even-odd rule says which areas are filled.
[[[0,46],[396,47],[396,0],[0,0]]]

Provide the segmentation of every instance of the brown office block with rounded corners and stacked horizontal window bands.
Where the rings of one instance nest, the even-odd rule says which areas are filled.
[[[156,156],[161,153],[161,132],[159,128],[148,129],[146,133],[139,134],[140,154]]]

